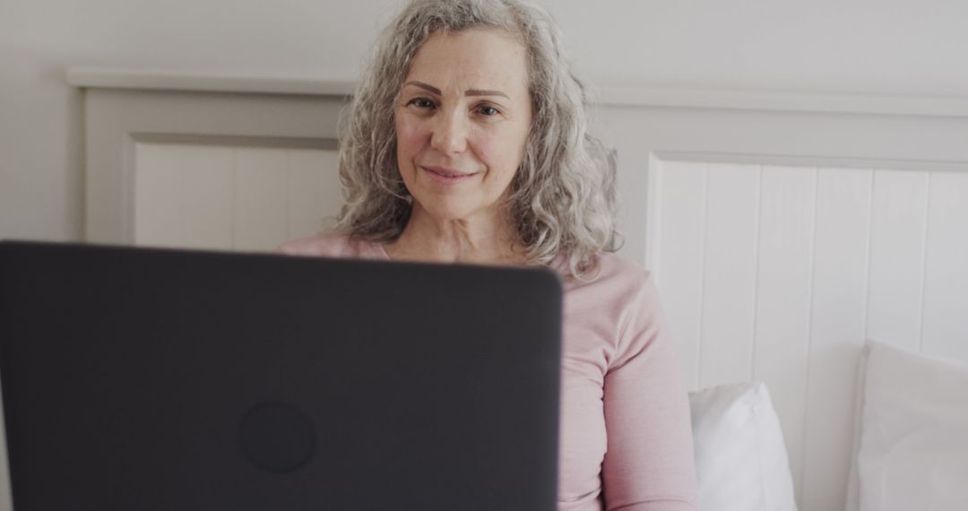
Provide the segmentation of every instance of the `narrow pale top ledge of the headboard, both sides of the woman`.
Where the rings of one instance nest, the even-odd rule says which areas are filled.
[[[349,96],[355,80],[323,75],[230,75],[171,70],[70,68],[82,88],[217,91]],[[968,97],[817,94],[660,87],[591,87],[590,102],[606,106],[968,117]]]

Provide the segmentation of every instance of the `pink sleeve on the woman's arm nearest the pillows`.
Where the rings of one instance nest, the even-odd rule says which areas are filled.
[[[605,503],[609,510],[695,511],[688,395],[650,277],[631,305],[603,385]]]

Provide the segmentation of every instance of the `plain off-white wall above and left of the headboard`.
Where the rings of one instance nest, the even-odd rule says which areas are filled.
[[[0,238],[82,236],[69,66],[355,75],[395,0],[0,0]],[[594,85],[968,97],[961,0],[544,0]]]

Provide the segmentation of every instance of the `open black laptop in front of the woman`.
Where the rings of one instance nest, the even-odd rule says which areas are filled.
[[[548,270],[0,243],[17,511],[553,510]]]

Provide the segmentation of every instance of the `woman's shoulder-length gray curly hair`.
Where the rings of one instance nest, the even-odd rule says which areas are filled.
[[[341,127],[346,202],[335,228],[378,242],[403,232],[412,198],[397,167],[394,105],[431,35],[472,28],[504,30],[527,49],[532,125],[507,203],[526,263],[563,255],[571,276],[593,278],[595,255],[617,250],[615,160],[588,134],[585,88],[558,26],[519,0],[412,0],[383,30]]]

